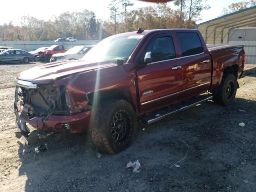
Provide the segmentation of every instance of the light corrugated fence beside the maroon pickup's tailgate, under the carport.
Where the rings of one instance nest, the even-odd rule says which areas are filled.
[[[247,64],[256,64],[256,41],[230,41],[234,45],[244,45]]]

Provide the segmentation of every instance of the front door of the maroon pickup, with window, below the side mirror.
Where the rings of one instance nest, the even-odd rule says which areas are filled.
[[[152,53],[152,63],[137,70],[142,113],[177,102],[182,96],[182,69],[173,70],[177,60],[172,35],[152,35],[140,59],[146,52]]]

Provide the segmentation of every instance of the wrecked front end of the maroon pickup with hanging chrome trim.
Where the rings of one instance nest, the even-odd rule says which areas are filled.
[[[33,84],[32,82],[16,80],[14,112],[16,115],[16,137],[28,136],[29,122],[35,128],[43,128],[44,122],[52,114],[69,115],[69,100],[66,86],[51,84]],[[34,119],[36,123],[33,122]]]

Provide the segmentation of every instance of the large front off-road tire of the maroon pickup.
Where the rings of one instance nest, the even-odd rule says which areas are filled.
[[[113,134],[113,132],[116,133],[113,125],[116,127],[119,124],[114,122],[118,114],[122,114],[127,122],[126,132],[122,134],[125,137],[119,141],[114,138]],[[104,100],[98,110],[95,110],[94,122],[92,142],[99,152],[116,154],[126,149],[135,138],[136,115],[132,105],[126,100]]]

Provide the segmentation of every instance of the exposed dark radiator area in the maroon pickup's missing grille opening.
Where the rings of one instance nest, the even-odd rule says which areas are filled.
[[[16,86],[14,109],[21,120],[47,118],[51,114],[69,114],[65,86],[40,85],[38,88]]]

